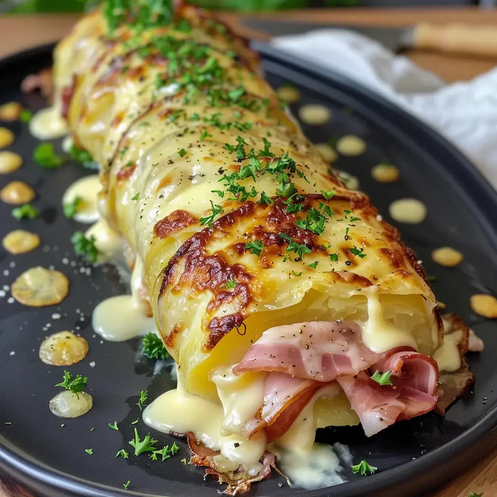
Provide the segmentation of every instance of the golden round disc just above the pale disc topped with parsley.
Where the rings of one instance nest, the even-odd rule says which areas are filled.
[[[53,366],[71,366],[82,361],[88,353],[88,342],[71,331],[60,331],[43,340],[40,359]]]

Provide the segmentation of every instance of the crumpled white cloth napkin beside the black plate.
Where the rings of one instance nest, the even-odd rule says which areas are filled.
[[[497,188],[497,68],[472,81],[447,85],[352,31],[322,29],[272,43],[394,100],[445,135]]]

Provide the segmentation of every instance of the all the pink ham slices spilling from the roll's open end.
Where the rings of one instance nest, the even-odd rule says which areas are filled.
[[[393,386],[370,372],[392,371]],[[368,349],[355,323],[311,322],[271,328],[233,368],[235,374],[267,371],[264,404],[244,435],[264,429],[269,441],[282,436],[316,391],[336,380],[367,436],[395,421],[431,411],[437,401],[436,362],[410,347],[383,354]]]

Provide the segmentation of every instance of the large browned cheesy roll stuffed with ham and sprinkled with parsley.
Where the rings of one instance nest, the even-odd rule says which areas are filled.
[[[443,412],[472,374],[462,359],[439,376],[443,321],[413,250],[337,178],[244,40],[205,10],[154,5],[84,16],[55,49],[53,98],[101,166],[100,211],[143,266],[140,295],[184,389],[220,404],[220,368],[263,378],[241,431],[268,442],[330,385],[340,394],[316,427],[360,421],[371,436]],[[228,493],[275,467],[266,451],[256,475],[223,472],[192,432],[176,435]]]

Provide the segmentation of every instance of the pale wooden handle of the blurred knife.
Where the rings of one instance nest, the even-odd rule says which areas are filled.
[[[414,27],[413,47],[497,58],[497,26],[422,22]]]

